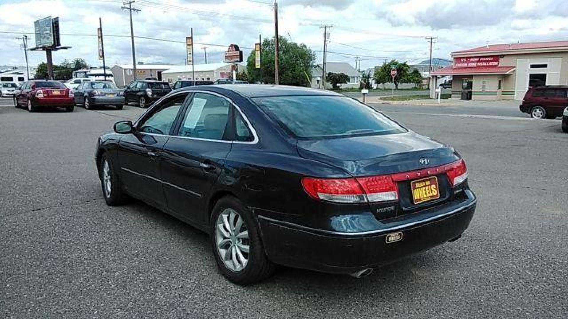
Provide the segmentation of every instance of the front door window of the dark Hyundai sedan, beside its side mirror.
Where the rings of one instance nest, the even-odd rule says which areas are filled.
[[[154,114],[148,117],[143,124],[139,125],[139,131],[168,135],[186,97],[187,94],[178,94],[166,100],[161,106],[157,107]]]

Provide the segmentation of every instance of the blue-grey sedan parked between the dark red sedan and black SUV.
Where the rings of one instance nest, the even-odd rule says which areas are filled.
[[[74,91],[75,103],[82,104],[87,110],[94,106],[124,107],[124,94],[110,81],[86,81]]]

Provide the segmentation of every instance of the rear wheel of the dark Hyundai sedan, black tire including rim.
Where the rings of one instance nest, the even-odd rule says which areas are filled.
[[[231,282],[247,285],[273,274],[274,264],[264,253],[253,216],[235,197],[225,196],[215,204],[211,213],[210,238],[219,271]]]

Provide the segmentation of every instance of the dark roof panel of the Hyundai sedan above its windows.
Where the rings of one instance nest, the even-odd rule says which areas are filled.
[[[264,96],[282,96],[282,95],[341,95],[339,93],[311,89],[302,86],[286,86],[286,85],[261,85],[261,84],[226,84],[226,85],[208,85],[201,86],[199,89],[207,87],[211,91],[222,92],[223,90],[233,91],[248,98],[260,98]],[[186,86],[182,90],[194,90],[195,86]]]

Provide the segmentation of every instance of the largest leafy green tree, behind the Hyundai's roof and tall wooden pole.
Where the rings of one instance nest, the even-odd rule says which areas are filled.
[[[310,70],[316,56],[305,44],[278,37],[278,80],[283,85],[310,86]],[[254,51],[247,58],[250,83],[274,84],[274,39],[262,41],[260,70],[254,68]]]

